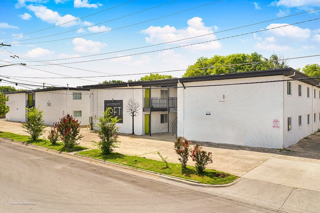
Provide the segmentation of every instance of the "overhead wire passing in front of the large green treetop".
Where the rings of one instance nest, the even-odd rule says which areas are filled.
[[[168,73],[168,72],[177,72],[177,71],[186,71],[186,70],[196,70],[196,69],[209,69],[209,68],[218,68],[218,67],[230,67],[230,66],[238,66],[238,65],[249,65],[249,64],[259,64],[259,63],[268,63],[268,62],[275,62],[275,61],[282,61],[282,60],[291,60],[291,59],[302,59],[302,58],[309,58],[309,57],[316,57],[319,55],[309,55],[309,56],[300,56],[294,58],[286,58],[286,59],[276,59],[276,60],[268,60],[268,61],[257,61],[257,62],[250,62],[250,63],[241,63],[241,64],[228,64],[228,65],[221,65],[221,66],[212,66],[212,67],[202,67],[202,68],[193,68],[193,69],[176,69],[176,70],[169,70],[169,71],[158,71],[158,72],[148,72],[148,73],[132,73],[132,74],[119,74],[119,75],[103,75],[103,76],[78,76],[77,78],[97,78],[97,77],[113,77],[113,76],[124,76],[124,75],[144,75],[144,74],[153,74],[153,73]],[[68,77],[23,77],[23,76],[10,76],[10,75],[2,75],[7,77],[17,77],[17,78],[68,78]],[[320,77],[319,77],[320,78]]]

